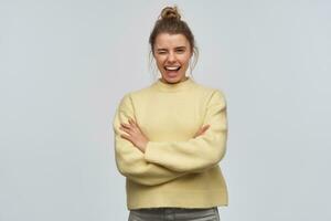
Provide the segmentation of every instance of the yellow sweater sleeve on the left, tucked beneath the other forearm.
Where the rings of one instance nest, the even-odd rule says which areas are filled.
[[[128,119],[135,119],[134,107],[129,94],[126,94],[116,109],[113,120],[115,135],[116,166],[121,175],[135,182],[145,186],[156,186],[168,182],[186,172],[170,170],[163,166],[146,161],[143,152],[132,145],[131,141],[121,138],[125,131],[120,130],[120,123],[128,124]]]

